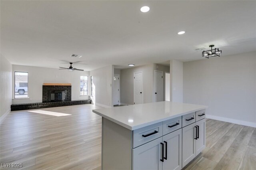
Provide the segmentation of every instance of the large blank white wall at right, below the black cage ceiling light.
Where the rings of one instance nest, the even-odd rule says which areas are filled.
[[[184,63],[184,103],[208,105],[209,118],[256,127],[256,54]]]

